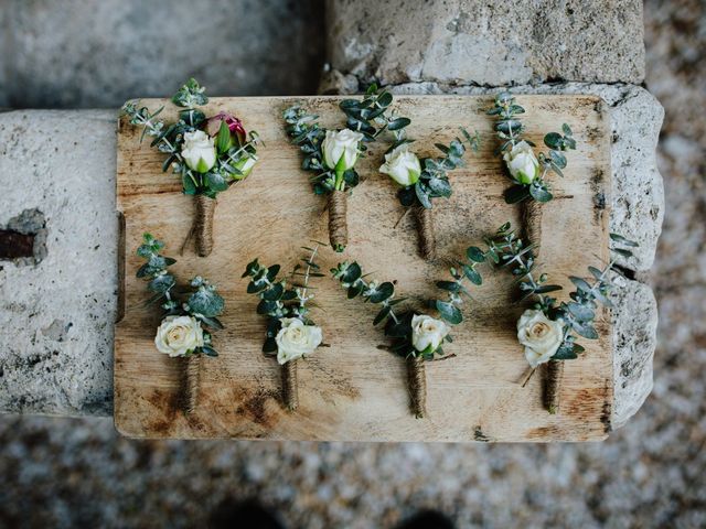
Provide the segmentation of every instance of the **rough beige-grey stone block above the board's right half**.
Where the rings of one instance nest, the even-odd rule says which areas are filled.
[[[330,0],[328,7],[329,62],[362,82],[644,79],[639,0]]]

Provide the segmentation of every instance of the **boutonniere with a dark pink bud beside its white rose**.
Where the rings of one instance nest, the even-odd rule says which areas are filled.
[[[172,97],[183,108],[174,123],[160,121],[160,108],[150,114],[137,101],[128,101],[122,112],[131,125],[142,127],[142,137],[152,137],[151,145],[167,156],[162,171],[170,168],[180,175],[182,191],[194,197],[195,217],[191,234],[195,235],[196,252],[206,257],[213,250],[213,216],[216,196],[231,185],[245,180],[257,162],[257,132],[246,132],[243,122],[226,112],[206,115],[197,107],[208,98],[195,79],[189,79]]]

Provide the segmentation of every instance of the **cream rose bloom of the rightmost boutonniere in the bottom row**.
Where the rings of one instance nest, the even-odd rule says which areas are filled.
[[[517,322],[517,339],[525,346],[525,358],[533,368],[549,361],[564,342],[564,324],[542,311],[526,310]]]

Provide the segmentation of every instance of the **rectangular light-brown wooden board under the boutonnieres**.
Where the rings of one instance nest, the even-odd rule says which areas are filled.
[[[610,131],[602,101],[590,96],[518,96],[527,114],[527,136],[537,145],[544,133],[574,130],[578,150],[568,154],[566,177],[553,177],[556,198],[545,206],[542,262],[552,282],[582,276],[588,264],[607,258],[610,204]],[[215,214],[215,249],[206,258],[189,248],[178,252],[192,223],[192,198],[180,193],[176,176],[161,173],[163,156],[139,143],[139,130],[120,122],[118,141],[118,208],[125,217],[125,317],[116,325],[115,422],[125,435],[137,438],[237,438],[345,441],[587,441],[610,429],[612,402],[611,328],[607,313],[597,322],[600,339],[582,339],[586,354],[567,361],[561,407],[549,415],[541,403],[541,377],[522,388],[527,368],[515,336],[523,306],[511,304],[512,284],[504,272],[485,270],[464,309],[466,322],[453,330],[447,347],[456,357],[427,365],[428,418],[409,413],[404,360],[381,350],[386,341],[372,327],[375,307],[346,300],[329,278],[318,280],[313,319],[323,327],[328,348],[320,348],[299,367],[300,408],[288,413],[280,404],[280,368],[260,353],[265,319],[257,299],[246,294],[240,279],[245,264],[261,262],[291,268],[300,246],[327,239],[324,202],[311,192],[300,170],[299,151],[289,144],[281,112],[301,104],[322,118],[325,127],[342,127],[338,97],[214,98],[207,115],[225,110],[257,130],[266,147],[243,183],[220,195]],[[165,105],[146,99],[150,109]],[[502,198],[509,185],[500,160],[492,119],[484,110],[491,97],[398,97],[399,114],[409,116],[409,134],[420,155],[434,143],[447,143],[459,126],[478,130],[481,151],[468,153],[467,166],[451,176],[453,196],[435,206],[439,253],[461,256],[504,222],[518,219],[517,206]],[[349,201],[350,246],[343,257],[322,253],[324,270],[340,259],[356,259],[381,280],[397,279],[400,295],[421,299],[438,291],[447,278],[442,262],[417,257],[417,235],[410,216],[395,228],[403,207],[389,179],[377,173],[385,145],[373,145],[359,162],[363,182]],[[146,307],[146,284],[135,278],[140,259],[135,252],[143,231],[167,242],[176,257],[181,281],[194,274],[210,278],[226,300],[225,331],[215,335],[221,356],[204,359],[201,401],[184,417],[175,407],[178,367],[154,349],[159,311]],[[546,237],[552,234],[552,237]],[[546,263],[546,267],[544,266]],[[564,294],[566,295],[566,294]]]

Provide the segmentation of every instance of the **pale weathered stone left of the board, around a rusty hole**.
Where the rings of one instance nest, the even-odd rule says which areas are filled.
[[[116,123],[114,110],[0,114],[0,225],[45,231],[43,259],[0,261],[3,411],[113,411]]]

